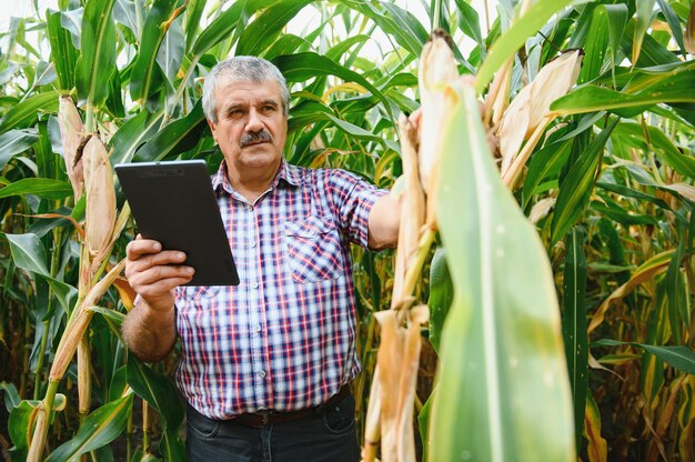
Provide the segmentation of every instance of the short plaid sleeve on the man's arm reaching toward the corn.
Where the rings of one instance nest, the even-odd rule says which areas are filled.
[[[340,229],[351,242],[369,247],[369,219],[376,200],[389,193],[344,170],[330,170],[329,192]]]

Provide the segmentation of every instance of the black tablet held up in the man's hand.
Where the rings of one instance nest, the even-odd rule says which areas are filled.
[[[115,165],[138,232],[185,252],[195,273],[187,285],[236,285],[220,209],[203,160]]]

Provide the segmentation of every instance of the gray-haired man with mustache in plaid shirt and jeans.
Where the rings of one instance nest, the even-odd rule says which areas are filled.
[[[394,247],[400,207],[342,170],[283,158],[289,91],[270,62],[231,58],[203,108],[224,161],[212,178],[238,287],[181,287],[182,252],[137,239],[125,274],[139,294],[129,348],[159,361],[181,339],[177,384],[191,461],[356,461],[360,372],[349,245]]]

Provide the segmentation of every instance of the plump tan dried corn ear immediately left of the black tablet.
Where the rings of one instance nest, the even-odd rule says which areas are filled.
[[[103,255],[115,224],[115,191],[109,153],[98,135],[84,145],[82,155],[87,189],[87,245],[90,255]]]

